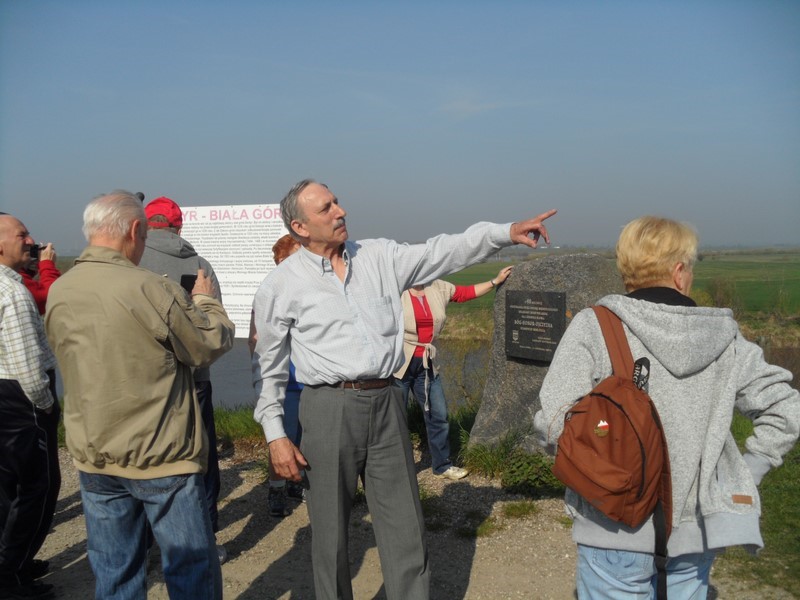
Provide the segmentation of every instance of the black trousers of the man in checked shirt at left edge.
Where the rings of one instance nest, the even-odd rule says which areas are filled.
[[[0,381],[0,582],[22,573],[50,527],[50,453],[41,416],[19,383]]]

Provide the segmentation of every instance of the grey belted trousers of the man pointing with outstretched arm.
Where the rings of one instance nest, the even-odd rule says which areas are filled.
[[[399,387],[303,389],[301,451],[317,600],[351,600],[348,528],[360,474],[389,600],[430,596],[425,523]]]

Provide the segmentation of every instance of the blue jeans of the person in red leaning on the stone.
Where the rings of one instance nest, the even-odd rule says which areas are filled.
[[[427,372],[428,389],[425,389]],[[428,432],[428,447],[431,449],[431,468],[437,475],[452,466],[450,460],[450,423],[447,420],[447,400],[444,397],[442,382],[434,376],[432,369],[422,366],[422,359],[414,357],[399,384],[403,388],[403,400],[408,402],[409,390],[422,408],[425,416],[425,429]],[[428,407],[426,409],[426,399]]]

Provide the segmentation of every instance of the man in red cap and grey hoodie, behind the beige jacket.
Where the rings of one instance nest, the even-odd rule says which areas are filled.
[[[198,255],[192,245],[180,236],[183,226],[181,207],[167,197],[152,200],[144,208],[147,216],[147,241],[140,267],[181,282],[182,278],[197,275],[203,269],[214,283],[215,298],[221,303],[219,281],[211,264]],[[189,286],[191,289],[191,286]],[[217,499],[219,498],[219,458],[217,456],[217,431],[214,427],[214,405],[211,402],[211,370],[208,367],[194,371],[194,384],[197,401],[203,415],[203,425],[208,435],[208,468],[203,483],[206,486],[206,499],[214,533],[219,531],[217,519]],[[221,563],[227,559],[224,546],[217,546]]]

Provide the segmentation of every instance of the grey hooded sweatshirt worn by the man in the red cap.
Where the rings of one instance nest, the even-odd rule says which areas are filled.
[[[219,281],[211,263],[197,254],[189,242],[168,229],[147,231],[147,241],[139,266],[178,283],[181,281],[181,275],[197,275],[197,269],[203,269],[206,276],[214,283],[214,289],[217,291],[214,298],[222,302]],[[210,381],[211,369],[209,367],[195,369],[194,380]]]

